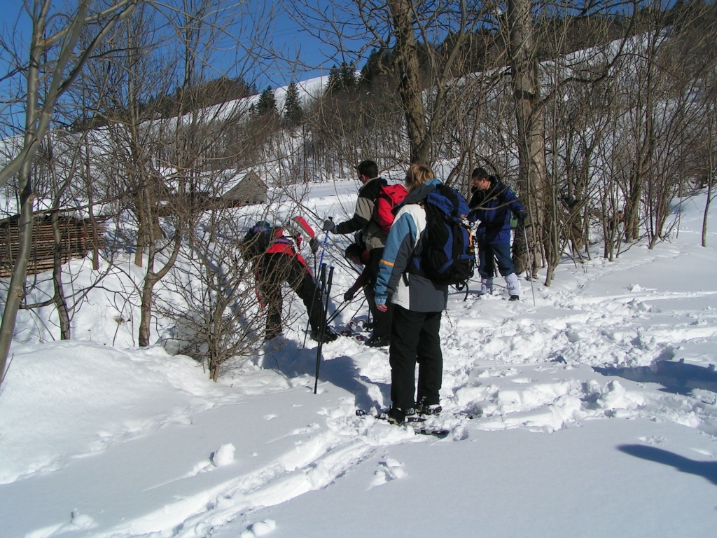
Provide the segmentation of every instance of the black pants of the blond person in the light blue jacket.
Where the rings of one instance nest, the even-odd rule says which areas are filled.
[[[441,328],[441,314],[442,312],[414,312],[394,305],[389,348],[393,407],[405,411],[414,407],[416,402],[423,405],[440,403],[443,354],[438,333]]]

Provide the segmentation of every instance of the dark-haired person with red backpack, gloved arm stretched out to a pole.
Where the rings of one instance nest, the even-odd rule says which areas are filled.
[[[359,173],[359,181],[361,181],[362,187],[359,189],[359,198],[356,200],[353,217],[339,224],[327,219],[323,223],[323,231],[345,235],[361,230],[364,244],[369,250],[367,268],[369,270],[369,285],[373,287],[376,284],[376,276],[379,274],[379,261],[384,253],[384,245],[386,244],[386,233],[381,230],[379,223],[376,222],[374,209],[381,187],[386,186],[388,181],[379,177],[379,166],[374,161],[361,161],[359,166],[356,166],[356,171]],[[375,312],[374,331],[369,341],[366,342],[367,346],[387,346],[390,343],[392,312],[393,308],[390,307],[385,311]]]

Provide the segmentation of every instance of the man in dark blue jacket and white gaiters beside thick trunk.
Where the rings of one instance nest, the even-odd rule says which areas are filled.
[[[497,177],[489,176],[483,168],[473,170],[473,195],[470,197],[470,222],[480,221],[475,240],[478,243],[478,273],[480,274],[481,294],[493,293],[493,275],[495,260],[498,271],[505,278],[508,296],[511,301],[521,297],[518,275],[513,268],[511,258],[511,213],[516,219],[526,220],[526,210],[518,202],[518,197],[505,187]]]

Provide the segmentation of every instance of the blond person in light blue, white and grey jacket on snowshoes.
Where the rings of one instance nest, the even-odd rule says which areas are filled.
[[[386,238],[374,288],[376,308],[394,308],[391,324],[391,409],[389,421],[403,423],[407,415],[440,410],[439,392],[443,375],[440,345],[442,312],[448,301],[448,286],[409,272],[412,254],[420,249],[426,228],[422,202],[440,181],[428,166],[413,164],[406,174],[408,195],[399,205]],[[416,390],[418,364],[418,390]]]

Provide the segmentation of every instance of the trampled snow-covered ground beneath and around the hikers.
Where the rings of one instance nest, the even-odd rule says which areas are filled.
[[[341,220],[354,197],[352,182],[324,184],[310,205]],[[387,349],[325,344],[314,395],[303,315],[219,383],[161,346],[120,346],[99,300],[77,316],[83,340],[19,326],[0,392],[0,534],[713,536],[717,233],[699,246],[703,207],[678,207],[679,235],[655,250],[566,260],[551,288],[533,283],[535,305],[526,280],[517,303],[452,293],[445,439],[356,417],[389,405]],[[332,308],[355,278],[338,263],[347,241],[327,251]]]

